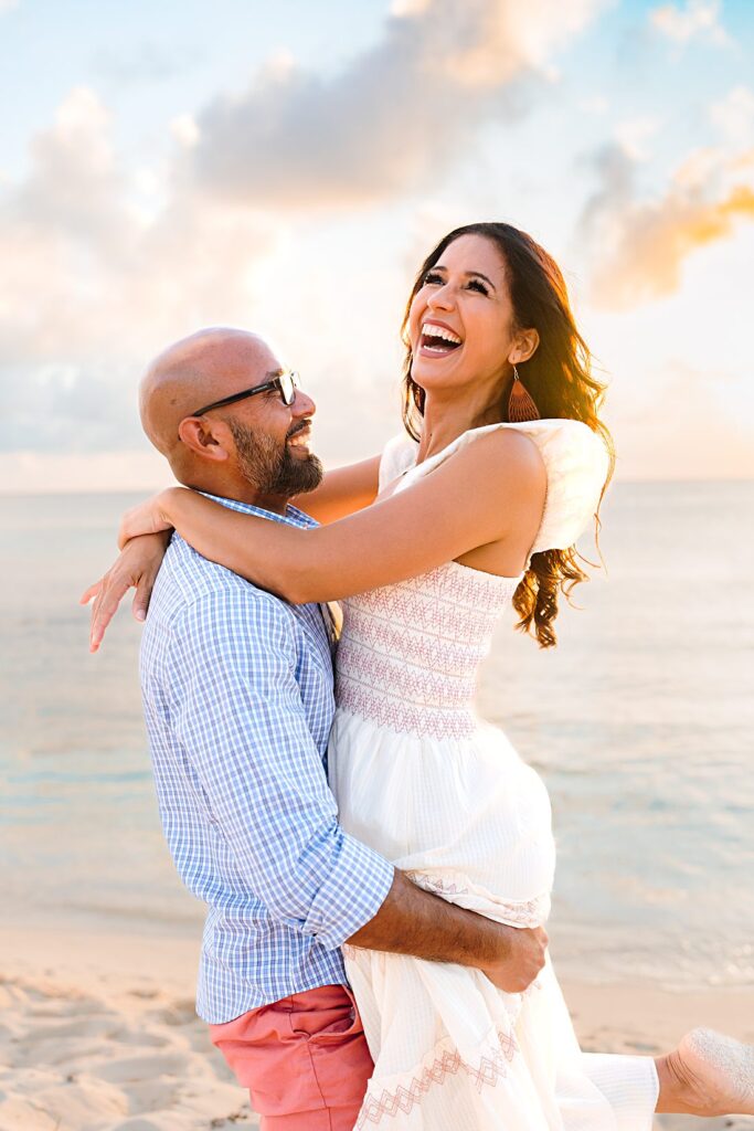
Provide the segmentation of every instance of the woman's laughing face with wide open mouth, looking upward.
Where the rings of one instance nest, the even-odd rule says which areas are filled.
[[[494,243],[461,235],[445,248],[414,296],[408,333],[411,377],[424,389],[503,377],[515,352],[513,308]]]

